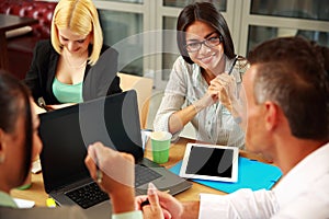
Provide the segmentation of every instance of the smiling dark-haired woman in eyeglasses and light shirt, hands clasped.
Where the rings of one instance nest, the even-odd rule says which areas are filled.
[[[239,65],[247,64],[235,55],[225,19],[212,3],[197,2],[181,11],[177,31],[181,56],[173,64],[154,128],[177,138],[191,122],[196,140],[242,148],[235,101],[246,71]]]

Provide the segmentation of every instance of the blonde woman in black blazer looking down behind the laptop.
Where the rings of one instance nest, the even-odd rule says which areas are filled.
[[[102,54],[109,59],[105,71],[93,70]],[[103,44],[91,0],[60,0],[54,11],[50,39],[36,44],[25,83],[35,103],[50,108],[118,93],[117,56]]]

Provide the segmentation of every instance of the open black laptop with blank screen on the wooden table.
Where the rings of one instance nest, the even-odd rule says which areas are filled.
[[[136,183],[144,172],[151,172],[151,182],[172,195],[192,186],[191,182],[144,158],[134,90],[41,114],[39,119],[39,136],[44,145],[41,153],[44,187],[59,206],[77,205],[80,197],[75,196],[75,191],[81,187],[87,189],[84,185],[88,185],[88,189],[99,188],[84,165],[87,147],[94,141],[133,154]],[[147,186],[148,182],[136,185],[137,195],[146,194]],[[100,192],[92,194],[95,193]],[[109,197],[100,194],[105,200],[95,204],[97,197],[90,197],[94,203],[80,206],[89,217],[109,218]]]

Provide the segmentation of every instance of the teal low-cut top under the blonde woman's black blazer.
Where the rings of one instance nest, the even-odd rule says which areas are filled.
[[[82,82],[77,84],[61,83],[55,77],[53,82],[53,92],[60,103],[81,103],[82,99]]]

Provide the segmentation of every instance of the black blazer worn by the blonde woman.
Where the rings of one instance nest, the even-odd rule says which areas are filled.
[[[89,53],[91,49],[90,46]],[[117,57],[118,53],[114,48],[103,45],[98,62],[93,67],[87,65],[82,87],[83,101],[122,92],[120,78],[116,76]],[[53,48],[49,39],[36,44],[24,80],[36,103],[38,97],[43,97],[46,104],[60,104],[52,89],[59,54]]]

